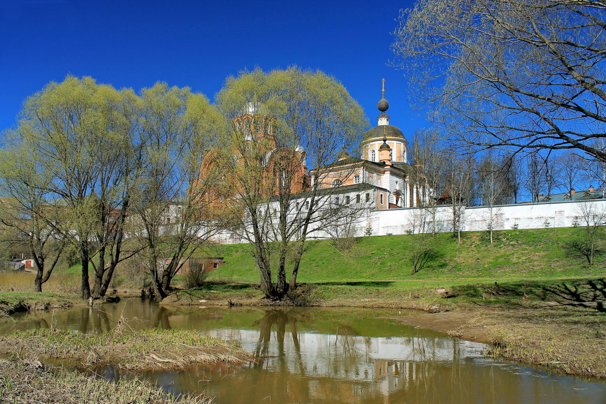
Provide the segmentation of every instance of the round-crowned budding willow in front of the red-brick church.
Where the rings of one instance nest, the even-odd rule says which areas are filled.
[[[305,240],[361,211],[336,202],[342,188],[327,182],[331,164],[358,144],[367,119],[341,83],[297,67],[230,77],[216,102],[234,122],[221,160],[231,230],[250,243],[261,290],[282,299],[296,288]]]

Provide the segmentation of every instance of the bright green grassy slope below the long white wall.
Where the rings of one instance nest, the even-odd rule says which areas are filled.
[[[596,258],[588,268],[583,257],[567,254],[565,243],[581,229],[505,230],[494,232],[488,243],[485,232],[462,234],[458,244],[451,234],[437,234],[437,256],[421,272],[411,275],[410,237],[362,237],[348,251],[339,251],[332,240],[311,241],[299,271],[300,282],[351,282],[404,280],[492,280],[599,276],[606,259]],[[258,282],[255,263],[247,245],[225,245],[213,251],[226,263],[211,279]],[[415,282],[416,283],[416,282]]]

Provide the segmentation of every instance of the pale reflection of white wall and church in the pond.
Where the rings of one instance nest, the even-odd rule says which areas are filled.
[[[481,358],[484,345],[441,337],[362,337],[291,333],[280,337],[256,329],[216,329],[211,335],[238,340],[262,353],[255,366],[285,377],[308,377],[309,396],[388,395],[430,377],[436,365],[450,366],[463,357]],[[260,346],[263,345],[263,346]],[[304,355],[301,355],[304,353]],[[339,380],[340,383],[335,383]],[[343,383],[349,380],[350,383]],[[338,391],[335,391],[337,389]],[[343,391],[343,390],[346,391]]]

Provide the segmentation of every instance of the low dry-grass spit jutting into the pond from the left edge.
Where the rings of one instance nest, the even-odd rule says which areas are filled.
[[[80,334],[33,329],[0,337],[0,352],[35,355],[42,359],[68,359],[84,366],[114,365],[121,369],[183,369],[194,363],[250,362],[238,346],[195,331],[147,329]]]

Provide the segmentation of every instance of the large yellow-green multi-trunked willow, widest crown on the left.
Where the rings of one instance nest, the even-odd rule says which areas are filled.
[[[25,101],[13,137],[45,176],[43,185],[22,181],[44,193],[38,214],[79,253],[83,299],[91,296],[90,265],[93,295],[104,296],[116,265],[132,254],[124,254],[123,227],[139,171],[137,104],[132,90],[68,76]]]

